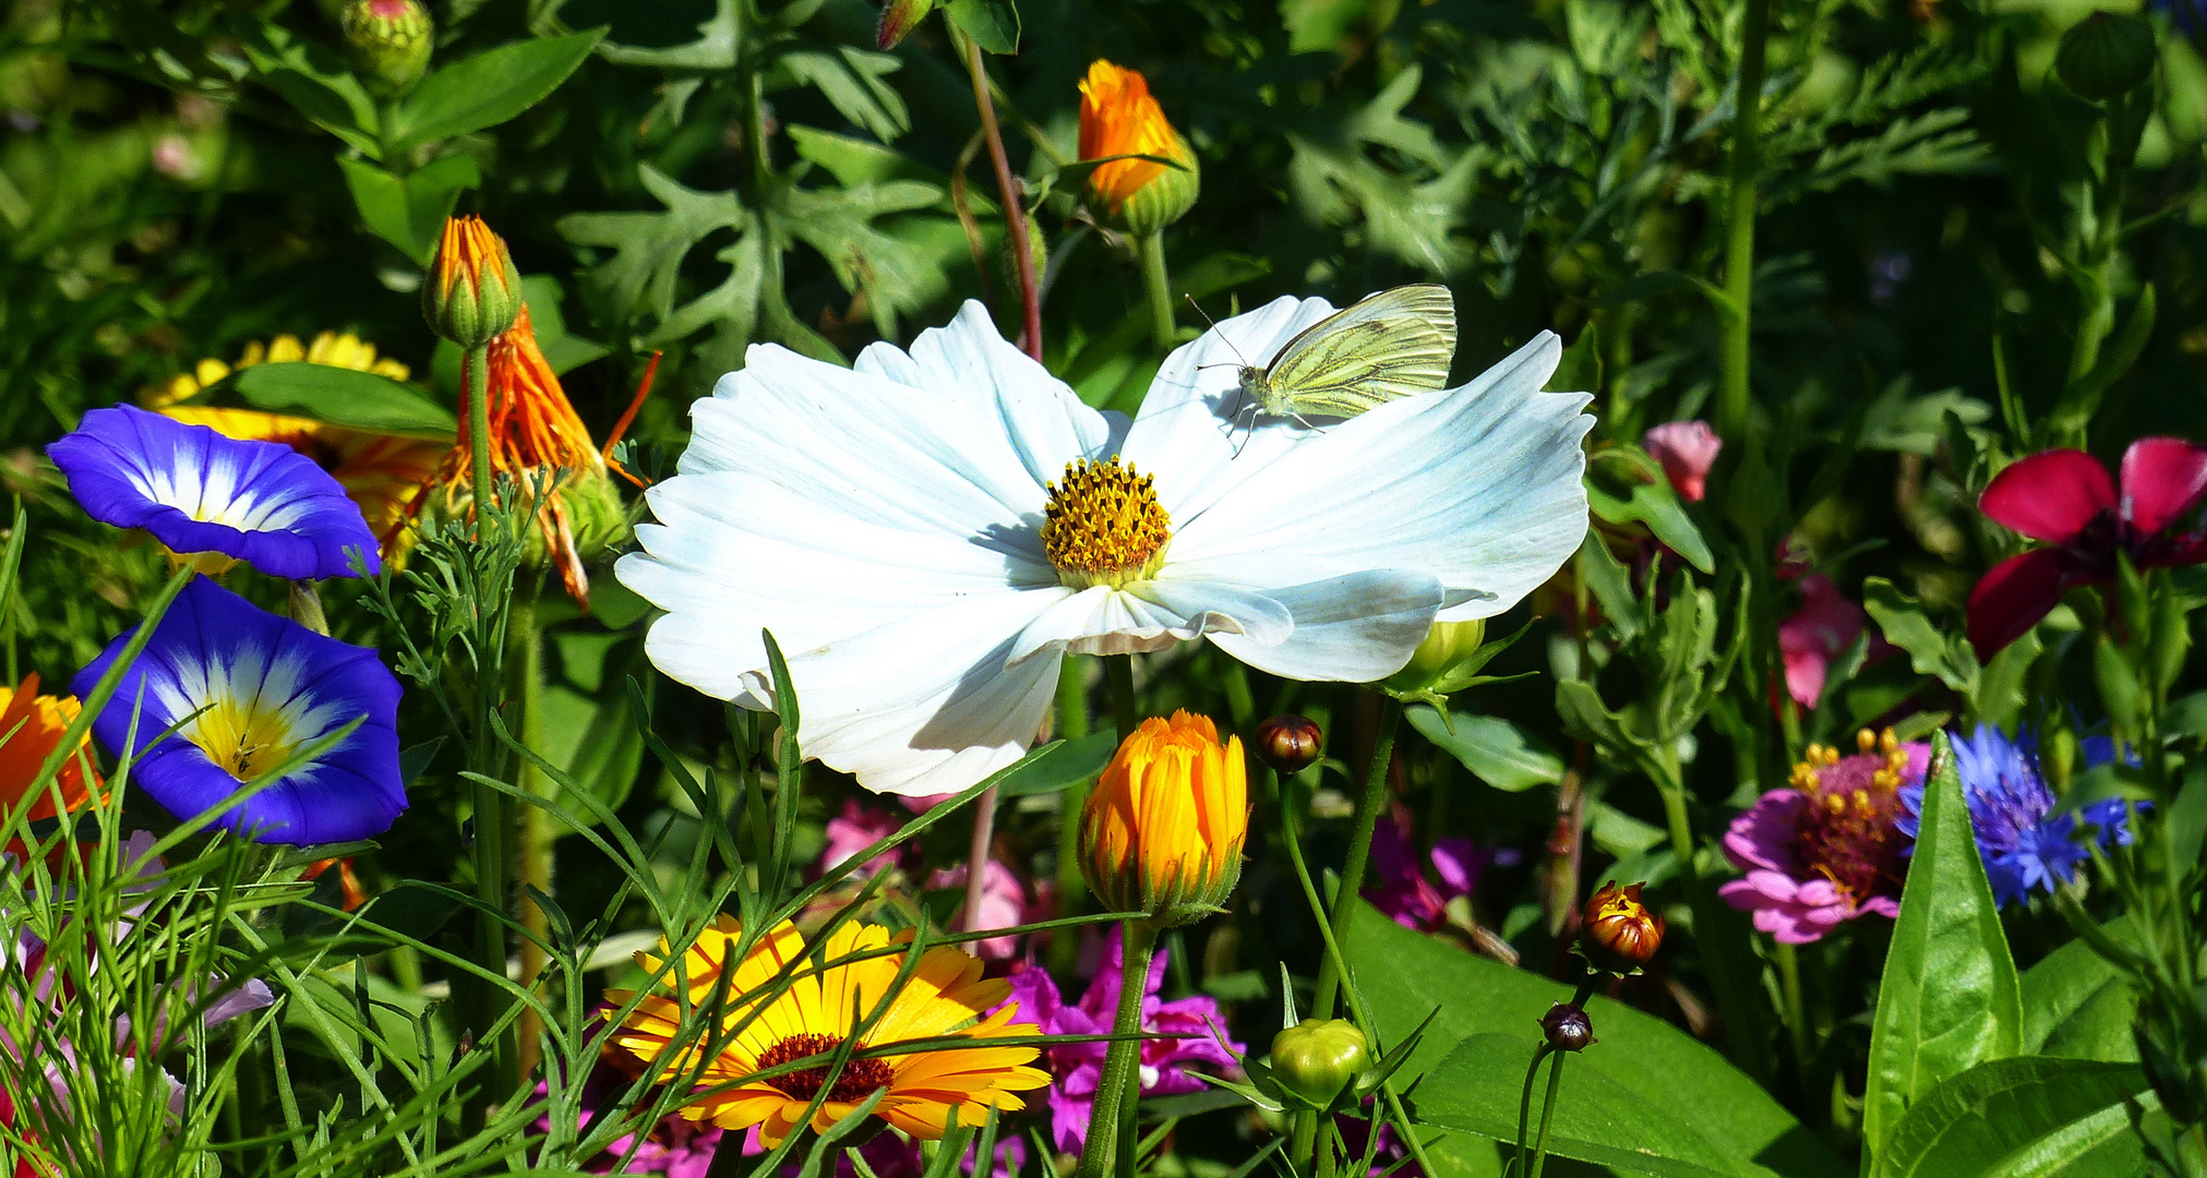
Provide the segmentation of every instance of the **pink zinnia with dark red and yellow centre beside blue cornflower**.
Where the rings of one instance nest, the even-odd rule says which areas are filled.
[[[1863,913],[1900,915],[1907,836],[1894,818],[1900,788],[1922,781],[1931,746],[1867,728],[1856,743],[1854,757],[1810,746],[1792,783],[1763,794],[1724,834],[1724,856],[1746,876],[1717,896],[1755,913],[1755,927],[1779,942],[1808,944]]]

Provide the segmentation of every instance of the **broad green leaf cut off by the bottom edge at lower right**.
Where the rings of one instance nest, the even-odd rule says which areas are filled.
[[[2145,1174],[2145,1072],[2132,1063],[1995,1059],[1931,1090],[1894,1129],[1874,1178]],[[2077,1165],[2090,1158],[2088,1165]]]

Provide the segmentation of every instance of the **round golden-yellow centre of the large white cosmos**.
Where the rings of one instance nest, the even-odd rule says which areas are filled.
[[[1121,587],[1154,574],[1172,538],[1172,516],[1156,503],[1152,476],[1134,474],[1117,454],[1066,463],[1042,514],[1042,551],[1073,589]]]

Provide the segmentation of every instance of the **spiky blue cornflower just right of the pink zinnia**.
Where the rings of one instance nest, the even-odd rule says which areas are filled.
[[[1969,799],[1969,825],[1977,834],[1977,854],[1993,882],[1993,900],[2002,907],[2022,902],[2033,889],[2053,893],[2077,876],[2077,865],[2092,858],[2079,838],[2083,825],[2097,827],[2101,847],[2130,843],[2130,803],[2110,799],[2079,812],[2048,816],[2055,792],[2039,772],[2037,739],[2024,730],[2015,739],[1980,724],[1975,737],[1953,737],[1953,768]],[[2105,737],[2083,741],[2086,765],[2114,759]],[[1925,785],[1900,790],[1900,814],[1894,825],[1913,843],[1922,814]]]

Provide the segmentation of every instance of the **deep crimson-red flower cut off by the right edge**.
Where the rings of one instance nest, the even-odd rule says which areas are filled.
[[[2176,532],[2203,494],[2207,446],[2176,437],[2132,441],[2121,492],[2083,450],[2046,450],[1995,474],[1977,510],[2050,547],[1993,565],[1969,593],[1977,657],[2028,633],[2072,587],[2114,580],[2119,554],[2141,569],[2207,560],[2207,532]]]

